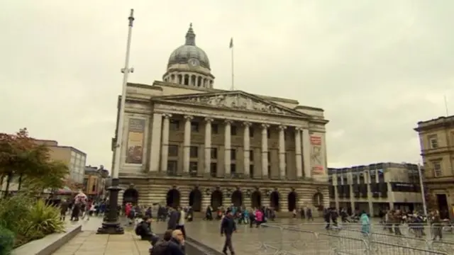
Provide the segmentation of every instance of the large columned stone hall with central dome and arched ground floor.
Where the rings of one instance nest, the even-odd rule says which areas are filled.
[[[128,84],[125,111],[120,203],[329,205],[323,110],[215,89],[192,26],[163,81]]]

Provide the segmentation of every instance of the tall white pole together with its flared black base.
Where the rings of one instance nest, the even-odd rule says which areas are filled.
[[[116,134],[116,146],[115,146],[115,162],[114,169],[112,169],[112,183],[108,188],[109,190],[109,210],[106,217],[104,217],[104,222],[102,226],[99,227],[96,234],[124,234],[124,229],[121,227],[120,222],[118,221],[118,193],[121,191],[120,188],[120,179],[118,179],[118,172],[120,170],[121,164],[121,145],[123,143],[123,118],[124,118],[124,109],[126,104],[126,86],[128,85],[128,74],[133,72],[133,68],[129,68],[129,52],[131,48],[131,34],[133,31],[133,21],[134,21],[134,10],[131,9],[131,14],[128,17],[128,42],[126,44],[126,60],[125,67],[121,69],[123,73],[123,84],[121,91],[121,103],[120,103],[120,114],[118,115],[118,129]]]

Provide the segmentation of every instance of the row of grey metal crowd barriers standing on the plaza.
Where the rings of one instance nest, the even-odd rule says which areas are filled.
[[[258,254],[311,255],[448,255],[454,243],[397,236],[366,234],[360,225],[316,232],[301,225],[265,224],[259,229]]]

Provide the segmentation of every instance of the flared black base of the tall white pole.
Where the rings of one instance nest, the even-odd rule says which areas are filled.
[[[106,216],[96,234],[124,234],[125,230],[118,221],[118,192],[121,191],[118,178],[112,179],[109,190],[109,207],[106,208]]]

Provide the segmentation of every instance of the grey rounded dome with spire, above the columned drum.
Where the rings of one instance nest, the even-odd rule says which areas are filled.
[[[169,57],[167,67],[172,64],[188,64],[189,60],[198,60],[201,67],[210,69],[208,56],[201,48],[196,46],[196,35],[192,30],[192,23],[186,33],[186,42],[184,45],[177,47]]]

